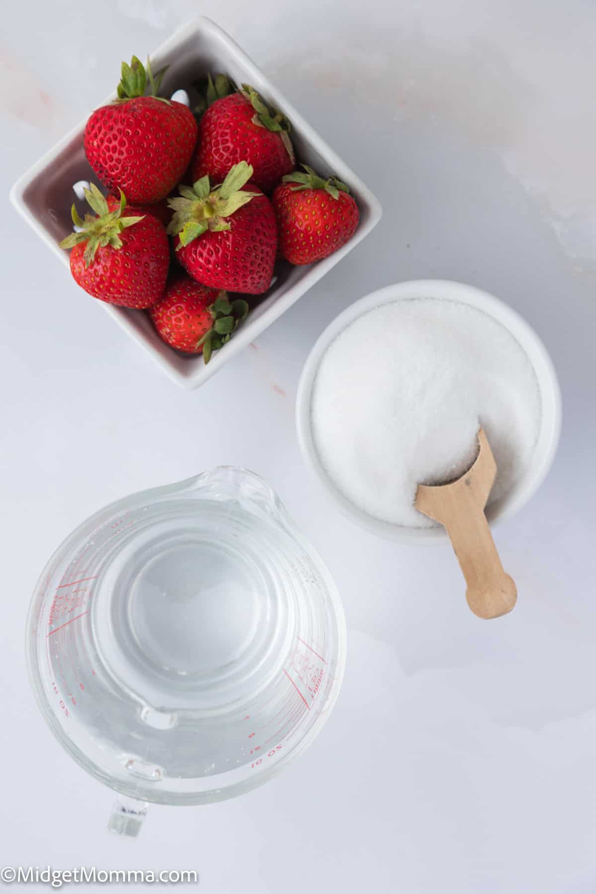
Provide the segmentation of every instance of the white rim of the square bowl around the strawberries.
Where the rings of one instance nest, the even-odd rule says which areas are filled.
[[[299,282],[291,284],[281,294],[276,294],[276,287],[273,285],[271,292],[264,296],[265,299],[273,298],[272,303],[258,316],[248,319],[244,325],[240,326],[232,341],[226,345],[226,349],[217,351],[208,366],[202,363],[200,355],[197,355],[197,358],[185,358],[183,365],[181,365],[180,357],[175,354],[172,348],[165,346],[164,343],[158,344],[155,342],[143,330],[143,327],[138,325],[139,317],[130,314],[130,308],[120,308],[106,304],[104,301],[96,300],[97,307],[103,308],[106,313],[112,316],[114,322],[128,333],[130,338],[137,342],[143,350],[147,351],[148,355],[164,370],[164,373],[168,375],[172,382],[188,390],[205,384],[223,364],[248,347],[250,342],[253,342],[258,335],[263,333],[279,316],[298,301],[306,291],[314,286],[324,274],[338,264],[342,257],[345,257],[348,252],[355,249],[358,242],[365,239],[365,236],[374,230],[374,227],[382,217],[381,203],[358,177],[357,173],[329,146],[323,137],[319,135],[318,131],[315,131],[315,128],[306,121],[303,115],[298,112],[281,90],[275,86],[273,81],[253,62],[242,47],[213,20],[206,16],[197,16],[172,32],[151,54],[154,68],[160,68],[168,63],[172,55],[176,54],[178,47],[193,36],[200,36],[204,40],[208,40],[211,46],[214,47],[214,52],[218,46],[225,47],[226,51],[234,57],[236,63],[246,72],[244,75],[245,79],[255,84],[256,88],[262,90],[274,105],[282,108],[288,114],[296,131],[299,132],[308,148],[312,149],[318,156],[321,156],[324,164],[337,173],[340,180],[348,182],[350,189],[354,191],[360,207],[360,223],[357,231],[344,246],[329,257],[323,258],[322,261],[310,265]],[[115,91],[113,91],[101,103],[98,103],[97,107],[110,102],[115,96]],[[66,267],[69,266],[68,254],[63,249],[58,248],[54,237],[47,231],[46,226],[38,218],[35,211],[29,207],[26,193],[32,181],[43,174],[49,166],[55,164],[56,159],[67,154],[71,147],[79,141],[82,144],[82,135],[87,119],[88,114],[71,131],[64,134],[54,146],[39,157],[36,162],[31,164],[17,181],[13,183],[13,187],[9,192],[9,199],[16,211],[29,223],[31,229],[38,234],[39,238],[46,243],[47,247],[54,252],[55,256]]]

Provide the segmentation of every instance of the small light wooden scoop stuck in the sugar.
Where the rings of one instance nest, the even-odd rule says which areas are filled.
[[[499,618],[516,604],[517,588],[503,570],[499,553],[484,515],[484,507],[497,474],[483,428],[478,431],[480,451],[465,475],[449,485],[418,485],[416,509],[441,522],[466,578],[466,599],[479,618]]]

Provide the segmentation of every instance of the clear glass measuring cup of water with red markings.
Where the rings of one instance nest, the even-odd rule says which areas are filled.
[[[261,785],[312,742],[338,694],[332,578],[273,490],[215,468],[134,493],[78,527],[33,595],[29,674],[71,756],[125,798],[189,805]]]

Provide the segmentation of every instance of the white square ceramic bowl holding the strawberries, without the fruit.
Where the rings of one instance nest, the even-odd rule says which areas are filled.
[[[323,176],[334,173],[341,181],[348,183],[360,212],[356,233],[347,245],[331,257],[310,266],[278,265],[280,269],[275,271],[277,279],[265,293],[264,299],[250,312],[246,323],[235,333],[231,342],[214,354],[207,367],[202,356],[183,357],[162,342],[143,311],[116,308],[103,301],[97,302],[135,342],[147,350],[174,382],[183,388],[197,388],[214,375],[223,363],[254,341],[259,333],[364,239],[381,219],[382,210],[379,201],[357,175],[265,78],[248,55],[213,21],[205,18],[190,21],[155,50],[151,55],[151,62],[154,71],[169,65],[161,90],[166,97],[172,96],[177,89],[188,89],[190,82],[205,76],[207,72],[226,72],[236,83],[252,84],[266,102],[277,106],[290,118],[292,142],[298,159],[312,165]],[[104,102],[109,102],[115,96],[114,92]],[[68,253],[58,248],[58,242],[71,232],[72,184],[80,180],[97,181],[83,150],[86,121],[87,119],[80,122],[78,127],[40,158],[37,164],[29,168],[11,190],[14,207],[67,268]]]

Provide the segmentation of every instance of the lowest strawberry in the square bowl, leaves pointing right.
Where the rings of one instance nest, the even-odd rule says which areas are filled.
[[[206,363],[214,350],[230,341],[247,314],[246,301],[229,301],[224,291],[208,289],[187,274],[174,276],[164,296],[149,310],[164,342],[189,354],[202,353]]]

